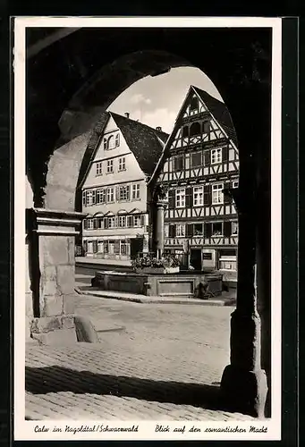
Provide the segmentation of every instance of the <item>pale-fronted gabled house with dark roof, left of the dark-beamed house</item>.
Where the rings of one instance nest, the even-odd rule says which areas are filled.
[[[82,246],[87,257],[129,259],[148,250],[148,181],[168,134],[107,112],[92,160],[80,184]]]

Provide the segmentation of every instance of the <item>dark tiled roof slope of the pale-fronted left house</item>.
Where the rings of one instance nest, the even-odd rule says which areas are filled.
[[[110,114],[117,127],[122,131],[123,138],[140,164],[141,170],[151,175],[163,152],[168,134],[126,116],[114,114],[114,112],[110,112]]]

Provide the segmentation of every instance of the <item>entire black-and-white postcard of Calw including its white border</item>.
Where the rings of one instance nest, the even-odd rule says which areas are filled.
[[[14,19],[18,440],[281,438],[281,19]]]

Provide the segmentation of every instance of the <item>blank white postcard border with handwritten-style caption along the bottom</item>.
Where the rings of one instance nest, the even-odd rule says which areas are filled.
[[[271,146],[271,224],[272,224],[272,417],[257,421],[26,421],[25,420],[25,30],[27,27],[180,27],[180,28],[272,28],[272,146]],[[199,18],[199,17],[18,17],[14,21],[14,439],[17,440],[280,440],[281,439],[281,88],[282,20],[279,18]],[[212,80],[213,81],[213,80]],[[156,426],[170,426],[171,432],[157,432]],[[138,432],[103,432],[101,426],[138,426]],[[42,427],[45,427],[44,431]],[[54,427],[75,427],[73,432],[53,432]],[[80,426],[94,431],[77,431]],[[185,426],[183,433],[174,427]],[[201,432],[189,432],[191,426]],[[236,426],[241,431],[236,431]],[[250,426],[261,432],[251,432]],[[98,427],[98,429],[97,429]],[[206,429],[227,427],[235,431]],[[265,428],[267,427],[267,433]],[[47,428],[49,429],[47,431]],[[41,429],[41,430],[40,430]],[[245,432],[242,432],[245,429]]]

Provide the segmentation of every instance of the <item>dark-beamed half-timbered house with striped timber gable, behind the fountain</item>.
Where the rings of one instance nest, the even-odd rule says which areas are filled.
[[[191,86],[155,175],[168,194],[165,250],[236,275],[237,214],[223,190],[238,187],[239,156],[224,103]]]

